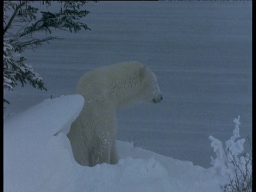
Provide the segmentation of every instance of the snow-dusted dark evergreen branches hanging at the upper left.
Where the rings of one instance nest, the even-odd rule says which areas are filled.
[[[40,1],[40,5],[46,7],[51,6],[51,3],[59,4],[58,12],[41,11],[38,14],[39,7],[36,7],[38,4],[34,1],[4,1],[4,89],[13,90],[17,82],[22,86],[29,82],[35,88],[46,90],[42,77],[25,63],[25,57],[17,53],[61,39],[48,36],[52,29],[70,32],[91,30],[85,23],[79,22],[89,13],[87,10],[80,10],[86,1]],[[37,19],[38,16],[41,18]],[[39,31],[45,31],[46,37],[34,38],[34,34]],[[5,102],[9,103],[4,99]]]

